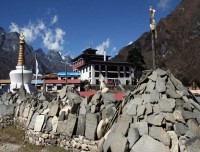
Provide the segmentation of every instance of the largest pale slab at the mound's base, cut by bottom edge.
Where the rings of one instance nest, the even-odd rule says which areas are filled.
[[[154,140],[152,137],[144,135],[131,148],[131,152],[170,152],[169,147]]]

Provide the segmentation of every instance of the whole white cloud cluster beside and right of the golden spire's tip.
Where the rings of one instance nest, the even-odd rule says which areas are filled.
[[[58,17],[55,15],[49,24],[55,24],[57,21]],[[43,21],[38,21],[36,24],[30,21],[23,27],[19,27],[16,23],[12,22],[9,28],[10,32],[23,33],[27,43],[32,43],[39,38],[42,39],[43,46],[47,49],[55,51],[63,50],[65,32],[61,28],[52,29],[51,26],[45,25]]]

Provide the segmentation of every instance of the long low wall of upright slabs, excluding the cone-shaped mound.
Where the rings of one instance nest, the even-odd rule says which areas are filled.
[[[57,96],[48,94],[5,94],[1,98],[1,115],[13,116],[25,139],[36,145],[55,144],[65,149],[97,151],[104,126],[116,111],[113,93],[98,92],[81,97],[71,86]]]

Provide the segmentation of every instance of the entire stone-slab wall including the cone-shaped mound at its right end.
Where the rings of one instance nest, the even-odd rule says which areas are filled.
[[[74,151],[198,152],[200,105],[169,71],[148,73],[121,103],[114,94],[81,97],[66,86],[58,95],[7,93],[0,99],[6,127],[25,130],[25,140]]]

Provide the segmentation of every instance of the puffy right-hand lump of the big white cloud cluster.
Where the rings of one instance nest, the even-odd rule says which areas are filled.
[[[48,29],[44,36],[42,37],[43,39],[43,44],[46,48],[50,50],[63,50],[63,37],[65,35],[65,32],[60,29],[56,28],[55,31],[53,32],[52,30]]]

